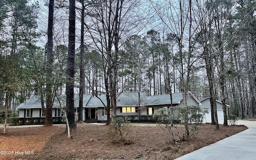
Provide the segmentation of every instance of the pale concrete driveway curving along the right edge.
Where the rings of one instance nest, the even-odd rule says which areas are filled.
[[[175,160],[256,160],[256,121],[239,120],[237,124],[248,129]]]

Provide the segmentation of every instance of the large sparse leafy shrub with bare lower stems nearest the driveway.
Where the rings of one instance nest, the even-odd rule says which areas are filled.
[[[207,112],[199,106],[173,106],[158,109],[153,117],[159,124],[165,124],[172,142],[175,143],[178,140],[188,140],[190,133],[196,137]],[[184,125],[185,132],[180,130],[177,122]]]

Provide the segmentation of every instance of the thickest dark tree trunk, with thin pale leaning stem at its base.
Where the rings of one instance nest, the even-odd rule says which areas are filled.
[[[70,131],[76,131],[76,120],[74,113],[74,66],[75,66],[75,18],[76,1],[69,0],[69,27],[68,27],[68,62],[66,82],[66,113]],[[67,129],[66,129],[67,130]]]

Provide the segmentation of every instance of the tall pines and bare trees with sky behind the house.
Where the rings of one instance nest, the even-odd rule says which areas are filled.
[[[68,77],[74,94],[107,94],[108,106],[118,92],[190,91],[254,117],[254,0],[76,0],[74,77],[67,72],[69,4],[54,2],[50,62],[49,2],[0,2],[1,112],[15,113],[33,94],[46,97],[47,84],[50,98],[65,94]]]

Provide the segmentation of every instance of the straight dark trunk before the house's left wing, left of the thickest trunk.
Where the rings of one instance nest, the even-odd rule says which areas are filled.
[[[48,14],[48,40],[47,40],[47,82],[46,82],[46,114],[44,126],[52,126],[52,37],[53,37],[53,14],[54,14],[54,0],[49,1],[49,14]]]

